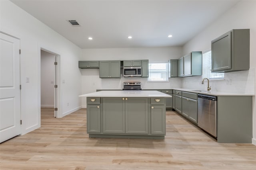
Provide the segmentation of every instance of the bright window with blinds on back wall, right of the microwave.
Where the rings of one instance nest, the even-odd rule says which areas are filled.
[[[168,81],[168,63],[149,63],[148,81]]]

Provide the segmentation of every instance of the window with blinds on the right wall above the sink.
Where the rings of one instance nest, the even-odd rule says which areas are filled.
[[[202,77],[206,77],[209,79],[217,79],[217,78],[224,78],[224,73],[222,72],[211,72],[212,68],[212,51],[206,51],[203,53],[203,69],[202,69]]]

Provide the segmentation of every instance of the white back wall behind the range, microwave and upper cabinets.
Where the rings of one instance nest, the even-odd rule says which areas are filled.
[[[168,62],[182,56],[182,47],[155,48],[118,48],[118,49],[83,49],[80,60],[140,60],[152,62]],[[122,71],[122,69],[121,69]],[[82,94],[96,92],[96,89],[122,89],[125,81],[139,81],[142,89],[179,88],[180,78],[169,78],[169,82],[148,82],[147,78],[99,78],[99,69],[80,69],[82,74]],[[82,99],[82,107],[86,107],[86,99]]]

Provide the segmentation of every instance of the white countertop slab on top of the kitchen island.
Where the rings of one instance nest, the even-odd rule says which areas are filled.
[[[88,94],[82,94],[79,97],[132,97],[132,98],[171,98],[172,96],[158,92],[156,90],[107,90]]]

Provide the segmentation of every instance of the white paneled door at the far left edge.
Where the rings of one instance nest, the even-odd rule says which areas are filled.
[[[0,143],[20,135],[20,40],[0,33]]]

